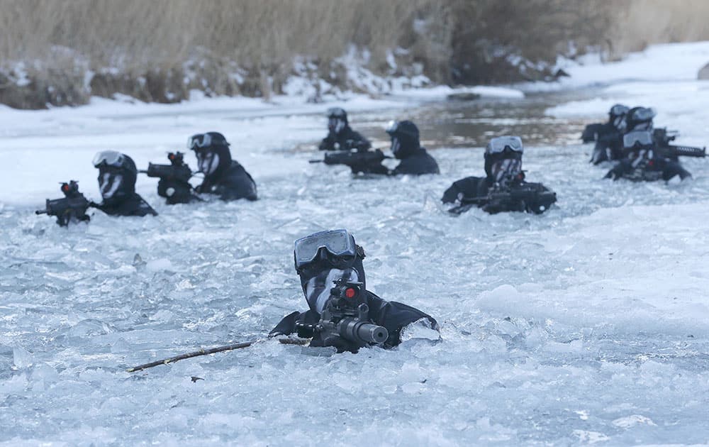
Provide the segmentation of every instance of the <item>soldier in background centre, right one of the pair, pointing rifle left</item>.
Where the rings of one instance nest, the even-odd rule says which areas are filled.
[[[328,153],[325,165],[347,165],[352,174],[381,175],[423,175],[438,174],[438,163],[421,147],[418,127],[411,121],[391,121],[386,133],[391,137],[391,153],[401,160],[397,167],[390,170],[381,164],[386,157],[381,150],[357,150],[349,153]]]

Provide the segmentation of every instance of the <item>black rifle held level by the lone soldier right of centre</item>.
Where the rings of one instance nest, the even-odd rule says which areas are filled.
[[[451,214],[462,214],[473,206],[479,206],[490,214],[502,211],[523,211],[542,214],[557,202],[557,193],[541,183],[515,182],[503,187],[499,184],[491,187],[486,196],[461,197],[460,204],[449,209]]]

